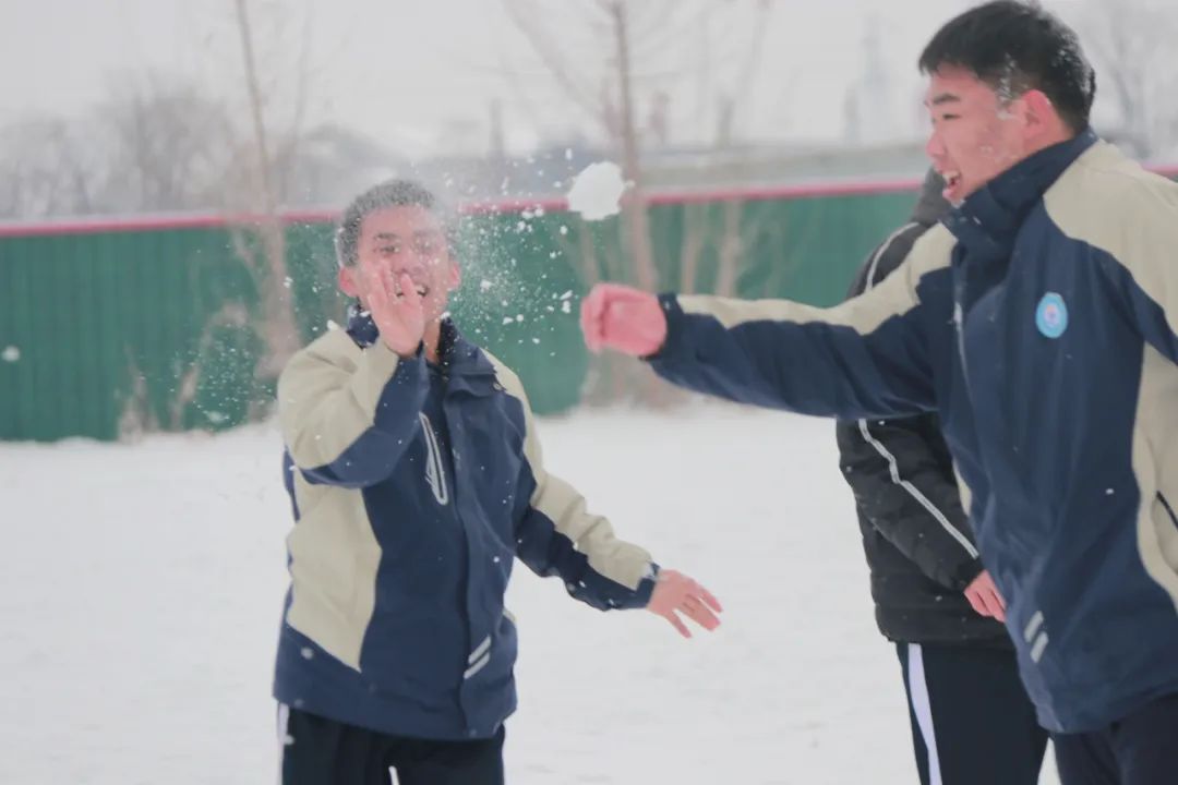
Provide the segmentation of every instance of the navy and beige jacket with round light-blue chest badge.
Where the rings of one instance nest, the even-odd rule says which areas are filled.
[[[664,295],[664,378],[841,419],[937,411],[1039,719],[1178,692],[1178,186],[1092,132],[829,310]]]

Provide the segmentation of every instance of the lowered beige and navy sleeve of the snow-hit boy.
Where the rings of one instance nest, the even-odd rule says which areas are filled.
[[[525,433],[516,493],[516,554],[541,577],[558,576],[574,598],[600,610],[650,601],[659,566],[618,539],[610,523],[588,511],[571,485],[544,470],[528,398],[514,374],[501,374],[523,408]]]

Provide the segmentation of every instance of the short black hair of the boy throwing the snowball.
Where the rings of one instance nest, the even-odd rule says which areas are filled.
[[[920,54],[920,71],[964,68],[1002,100],[1046,95],[1074,132],[1088,125],[1097,75],[1076,32],[1038,2],[994,0],[949,20]]]

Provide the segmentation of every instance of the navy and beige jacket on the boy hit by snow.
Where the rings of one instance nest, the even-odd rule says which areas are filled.
[[[516,705],[503,605],[519,558],[594,607],[643,607],[656,567],[544,471],[518,378],[443,322],[402,359],[365,314],[278,385],[296,524],[276,698],[384,733],[494,736]]]

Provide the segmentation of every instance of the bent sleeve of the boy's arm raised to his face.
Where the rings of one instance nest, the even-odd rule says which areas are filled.
[[[310,483],[358,488],[388,478],[421,427],[429,393],[425,360],[402,359],[377,341],[332,351],[345,335],[296,354],[278,379],[278,419],[291,460]]]

